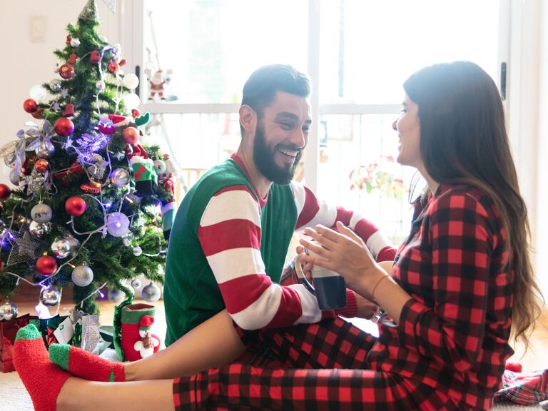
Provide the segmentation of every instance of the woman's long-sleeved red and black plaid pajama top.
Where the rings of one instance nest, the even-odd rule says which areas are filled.
[[[398,325],[380,320],[371,367],[487,410],[513,353],[514,272],[506,268],[502,221],[491,199],[470,186],[440,185],[415,206],[392,270],[412,299]]]

